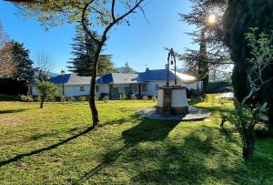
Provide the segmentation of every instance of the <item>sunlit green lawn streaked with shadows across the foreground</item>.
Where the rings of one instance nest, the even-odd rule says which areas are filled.
[[[0,102],[0,183],[272,184],[273,139],[246,161],[238,133],[219,127],[232,103],[190,104],[211,117],[159,121],[136,117],[153,102],[98,102],[103,127],[90,130],[87,103]]]

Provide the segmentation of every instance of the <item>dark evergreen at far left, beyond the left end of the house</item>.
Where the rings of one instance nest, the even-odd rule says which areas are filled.
[[[35,74],[35,69],[32,67],[33,61],[29,58],[29,50],[18,42],[12,41],[12,44],[12,60],[16,68],[14,78],[30,81]]]

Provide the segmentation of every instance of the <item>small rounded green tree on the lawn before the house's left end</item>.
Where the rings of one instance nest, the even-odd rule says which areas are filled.
[[[45,99],[53,99],[56,97],[59,87],[55,84],[47,81],[38,82],[38,90],[41,93],[41,103],[40,108],[44,108]]]

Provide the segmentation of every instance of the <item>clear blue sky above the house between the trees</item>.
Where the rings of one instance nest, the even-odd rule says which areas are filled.
[[[164,68],[165,46],[177,52],[183,52],[185,47],[197,47],[185,34],[193,27],[179,21],[178,13],[187,14],[190,10],[187,0],[148,0],[148,3],[145,11],[150,25],[138,12],[129,16],[131,26],[116,26],[110,32],[105,53],[113,55],[116,67],[128,62],[136,71],[145,70],[146,65],[152,69]],[[14,5],[3,1],[0,2],[0,20],[8,36],[30,50],[33,60],[37,53],[45,52],[54,58],[54,72],[66,70],[67,61],[73,57],[70,44],[75,36],[74,26],[57,26],[44,32],[39,22],[18,15]],[[179,62],[178,66],[181,65]]]

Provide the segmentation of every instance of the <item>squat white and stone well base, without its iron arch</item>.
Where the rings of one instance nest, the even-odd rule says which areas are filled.
[[[186,87],[159,87],[157,112],[165,116],[187,114],[188,105]]]

